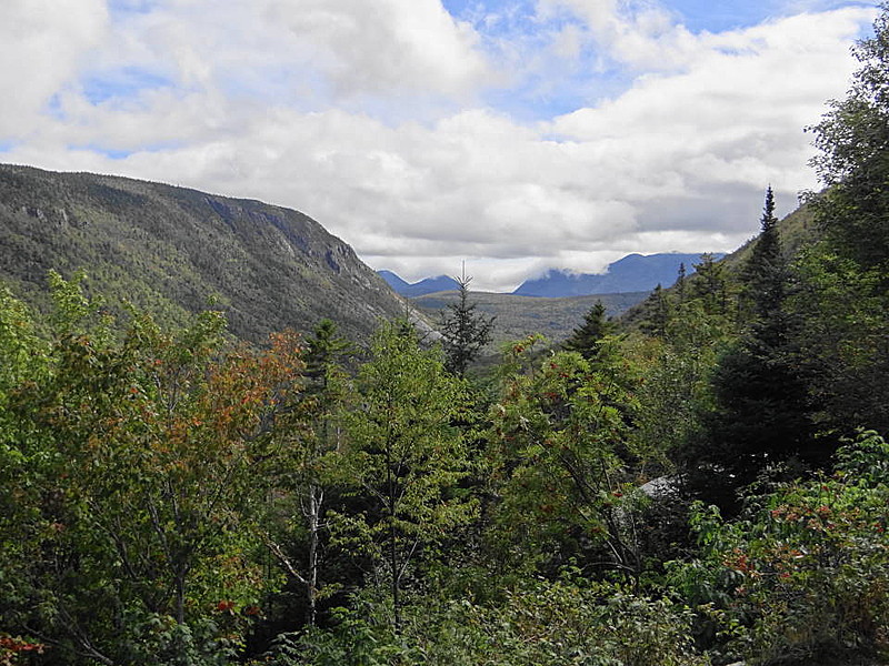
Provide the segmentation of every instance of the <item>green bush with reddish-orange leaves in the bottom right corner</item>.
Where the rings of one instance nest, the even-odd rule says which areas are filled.
[[[886,649],[887,464],[889,446],[863,432],[840,450],[833,476],[751,496],[733,522],[699,513],[698,601],[723,608],[730,649],[755,664]]]

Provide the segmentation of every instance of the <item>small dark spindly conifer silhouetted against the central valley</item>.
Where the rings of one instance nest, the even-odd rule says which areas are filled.
[[[476,303],[469,301],[469,283],[472,278],[466,274],[466,268],[456,280],[459,284],[457,302],[448,303],[440,329],[444,364],[450,372],[463,376],[469,364],[491,341],[495,317],[477,312]]]

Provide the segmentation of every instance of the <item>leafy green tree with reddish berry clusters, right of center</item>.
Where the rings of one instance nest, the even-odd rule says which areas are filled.
[[[517,343],[512,353],[529,349]],[[577,352],[555,353],[528,371],[511,363],[491,410],[487,463],[505,568],[551,568],[589,542],[606,549],[610,567],[638,575],[633,506],[641,498],[625,460],[638,453],[627,426],[636,408],[632,369],[609,339],[595,363]]]

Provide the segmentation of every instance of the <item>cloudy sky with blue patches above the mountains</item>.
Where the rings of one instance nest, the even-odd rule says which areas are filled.
[[[876,2],[2,0],[0,162],[297,209],[511,291],[786,214]]]

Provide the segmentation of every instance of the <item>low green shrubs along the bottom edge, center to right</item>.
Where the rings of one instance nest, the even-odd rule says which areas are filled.
[[[340,613],[337,625],[281,642],[274,666],[696,666],[691,613],[613,584],[529,582],[501,604],[423,599],[400,635]]]

